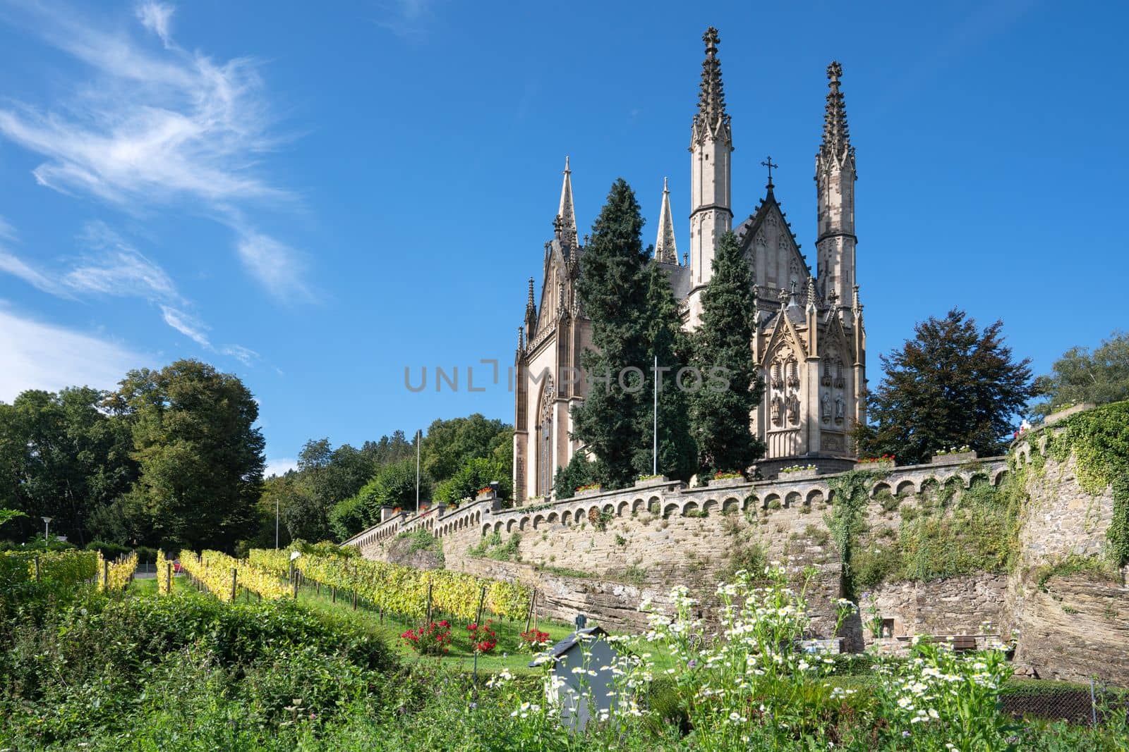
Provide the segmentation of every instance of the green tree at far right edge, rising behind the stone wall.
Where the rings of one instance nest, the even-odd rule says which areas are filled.
[[[1080,402],[1129,399],[1129,334],[1114,331],[1093,353],[1088,347],[1066,351],[1050,373],[1035,379],[1035,393],[1047,399],[1031,408],[1034,415]]]

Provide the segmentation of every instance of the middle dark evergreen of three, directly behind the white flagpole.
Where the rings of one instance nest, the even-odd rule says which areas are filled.
[[[698,449],[690,435],[689,395],[679,389],[677,374],[690,362],[690,343],[682,330],[679,304],[671,290],[671,280],[658,264],[647,268],[647,329],[646,343],[651,362],[645,370],[647,380],[640,392],[640,444],[634,453],[638,475],[651,475],[657,465],[658,475],[689,480],[698,469]],[[658,357],[658,405],[655,406],[655,357]],[[649,399],[648,399],[649,398]],[[657,462],[654,434],[655,414],[658,414]]]

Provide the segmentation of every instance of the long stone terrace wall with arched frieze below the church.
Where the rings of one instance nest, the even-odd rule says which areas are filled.
[[[896,511],[889,502],[883,505],[884,497],[913,503],[930,484],[963,489],[979,476],[998,485],[1006,472],[1006,463],[992,458],[879,474],[870,488],[875,501],[867,510],[869,522],[896,527]],[[739,566],[742,552],[759,548],[791,572],[815,570],[807,596],[815,616],[813,629],[826,637],[834,623],[834,601],[842,595],[842,561],[823,520],[830,510],[829,480],[833,477],[715,481],[690,489],[673,481],[645,481],[630,489],[513,510],[478,503],[441,515],[400,516],[350,542],[365,556],[386,558],[388,541],[425,528],[443,541],[448,568],[537,587],[544,595],[542,614],[571,621],[583,612],[605,625],[631,629],[645,625],[637,612],[639,602],[648,598],[660,607],[674,584],[686,584],[708,605],[717,581]],[[471,547],[491,533],[502,541],[518,537],[519,563],[469,555]],[[995,580],[987,577],[972,587],[984,595],[963,603],[954,596],[960,585],[894,587],[883,596],[883,608],[890,609],[883,616],[893,617],[895,629],[905,634],[926,622],[935,634],[964,634],[970,625],[998,620],[1000,599],[988,595],[996,592]],[[951,605],[926,621],[929,601]],[[843,636],[850,647],[861,647],[861,632],[860,620],[847,625]]]

